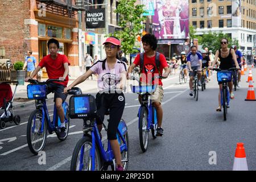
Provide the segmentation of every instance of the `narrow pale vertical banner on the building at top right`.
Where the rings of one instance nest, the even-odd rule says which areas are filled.
[[[232,1],[232,27],[242,26],[241,0]]]

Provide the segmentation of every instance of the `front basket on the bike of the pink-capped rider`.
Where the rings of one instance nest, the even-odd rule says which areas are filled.
[[[69,117],[88,118],[96,116],[96,101],[90,94],[72,96],[69,99]]]

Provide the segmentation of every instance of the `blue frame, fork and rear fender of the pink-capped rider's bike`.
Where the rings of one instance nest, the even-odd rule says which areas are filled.
[[[122,126],[123,125],[123,126]],[[125,130],[124,130],[125,129]],[[110,145],[110,142],[108,140],[108,149],[105,151],[103,144],[101,142],[101,138],[100,138],[100,133],[98,131],[98,127],[96,122],[94,122],[93,127],[92,127],[92,149],[90,150],[90,156],[92,158],[92,171],[95,170],[95,151],[96,151],[96,144],[99,147],[100,153],[101,153],[101,157],[104,160],[104,162],[112,162],[112,160],[114,159],[114,154]],[[120,122],[119,126],[118,126],[118,130],[117,130],[117,140],[120,143],[122,139],[122,144],[120,146],[120,151],[121,153],[123,151],[127,151],[127,144],[125,142],[125,138],[123,138],[123,135],[125,135],[127,132],[127,126],[125,122]],[[86,134],[84,134],[84,137],[86,137]],[[83,161],[83,157],[84,157],[84,146],[82,146],[81,148],[81,155],[80,155],[80,167],[79,170],[81,171],[82,168],[84,167],[84,161]]]

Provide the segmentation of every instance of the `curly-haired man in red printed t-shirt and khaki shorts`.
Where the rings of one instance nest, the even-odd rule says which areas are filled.
[[[152,34],[146,34],[142,37],[142,43],[143,43],[143,49],[144,49],[144,63],[141,73],[141,82],[142,84],[147,85],[158,85],[156,87],[156,91],[151,96],[152,103],[156,109],[156,114],[158,118],[158,129],[156,129],[156,135],[162,136],[163,135],[163,129],[162,129],[162,120],[163,120],[163,108],[161,106],[161,102],[163,100],[163,83],[161,79],[155,78],[152,80],[152,78],[156,76],[163,75],[163,69],[165,71],[163,77],[167,77],[170,73],[169,66],[166,61],[166,57],[162,53],[160,53],[159,61],[160,61],[160,70],[156,67],[155,63],[155,57],[156,57],[156,47],[158,40],[156,40],[155,35]],[[131,72],[133,69],[140,65],[140,55],[138,54],[135,57],[135,60],[133,64],[130,65],[128,69],[128,77],[130,77]],[[160,75],[159,75],[160,73]],[[151,83],[152,81],[152,83]],[[141,102],[141,96],[139,96],[139,101]]]

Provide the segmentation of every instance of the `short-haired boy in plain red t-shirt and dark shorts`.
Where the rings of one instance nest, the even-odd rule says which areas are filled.
[[[49,79],[61,80],[61,82],[50,82],[48,84],[47,93],[54,92],[55,106],[61,121],[60,138],[64,138],[67,133],[67,128],[65,127],[65,115],[62,104],[67,98],[67,94],[63,92],[68,84],[68,65],[70,65],[70,63],[67,56],[58,53],[60,46],[56,39],[50,39],[47,46],[50,54],[43,57],[38,67],[36,67],[31,76],[27,77],[25,81],[32,79],[43,67],[46,67]]]

